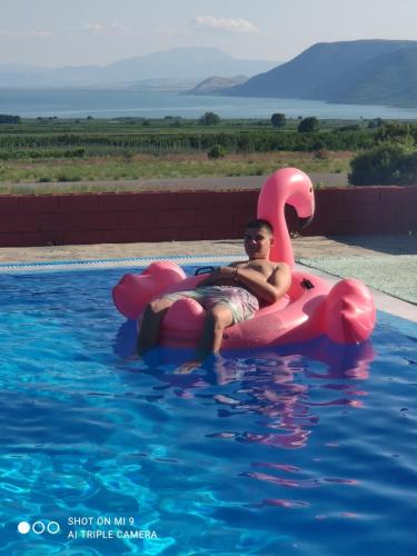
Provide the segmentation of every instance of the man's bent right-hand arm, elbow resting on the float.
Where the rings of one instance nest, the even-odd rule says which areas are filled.
[[[268,278],[250,268],[236,268],[235,281],[248,288],[258,299],[267,305],[278,301],[291,285],[291,270],[286,262],[277,264]]]

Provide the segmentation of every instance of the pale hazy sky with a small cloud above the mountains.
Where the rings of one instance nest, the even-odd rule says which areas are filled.
[[[178,47],[288,61],[316,42],[417,39],[416,0],[0,0],[0,63],[106,66]]]

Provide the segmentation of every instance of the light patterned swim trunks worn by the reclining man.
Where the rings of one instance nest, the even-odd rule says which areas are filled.
[[[237,286],[202,286],[187,291],[167,294],[163,297],[172,301],[188,297],[198,301],[206,310],[218,304],[225,305],[234,317],[234,325],[249,320],[259,309],[259,301],[254,294]]]

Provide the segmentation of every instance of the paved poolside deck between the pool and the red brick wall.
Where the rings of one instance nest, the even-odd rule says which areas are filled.
[[[292,239],[296,260],[315,268],[315,274],[322,274],[330,281],[337,281],[331,275],[354,277],[363,268],[358,278],[369,286],[377,307],[394,315],[417,322],[417,307],[396,296],[407,282],[409,300],[417,290],[416,236],[348,236],[348,237],[299,237]],[[141,257],[173,257],[197,255],[237,256],[244,254],[241,241],[235,239],[212,241],[165,241],[159,244],[100,244],[87,246],[46,246],[46,247],[3,247],[0,248],[0,264],[13,262],[53,262],[62,260],[98,260]],[[398,256],[398,257],[397,257]],[[404,266],[404,257],[407,266]],[[367,262],[366,268],[364,262]],[[403,262],[403,267],[400,264]],[[370,270],[369,270],[370,269]],[[389,284],[391,295],[376,289],[384,289]],[[380,285],[380,286],[378,286]],[[403,289],[401,289],[403,288]],[[407,295],[407,294],[406,294]]]

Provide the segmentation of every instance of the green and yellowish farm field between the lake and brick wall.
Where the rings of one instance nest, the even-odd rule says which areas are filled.
[[[22,119],[0,125],[0,191],[12,183],[138,180],[147,178],[262,176],[297,166],[309,172],[346,172],[351,157],[373,145],[369,122],[320,121],[298,132],[299,120]],[[225,156],[209,158],[212,148]],[[99,185],[99,183],[98,183]],[[81,186],[80,186],[81,187]],[[75,189],[75,188],[72,188]],[[117,183],[115,185],[117,190]],[[77,190],[77,188],[75,189]]]

